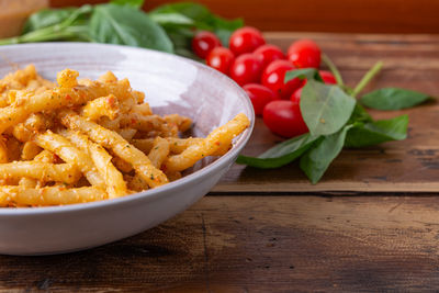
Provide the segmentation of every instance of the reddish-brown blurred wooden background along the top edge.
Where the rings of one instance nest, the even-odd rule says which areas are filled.
[[[104,0],[52,0],[53,5],[79,5]],[[144,9],[176,2],[145,1]],[[244,18],[263,31],[439,33],[436,0],[199,0],[225,18]]]

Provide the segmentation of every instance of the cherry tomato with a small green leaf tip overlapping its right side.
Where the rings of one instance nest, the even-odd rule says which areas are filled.
[[[274,91],[279,98],[289,99],[290,95],[299,87],[302,81],[299,78],[294,78],[289,82],[283,82],[285,72],[294,69],[294,66],[289,60],[274,60],[263,70],[262,84]]]

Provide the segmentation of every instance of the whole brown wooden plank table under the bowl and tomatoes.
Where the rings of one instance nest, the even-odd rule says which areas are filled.
[[[381,59],[385,69],[373,87],[439,95],[439,36],[267,34],[283,48],[304,36],[322,45],[350,84]],[[408,139],[344,150],[317,185],[294,164],[271,171],[234,166],[207,196],[140,235],[70,255],[0,257],[0,289],[438,289],[439,105],[402,113],[410,117]],[[258,120],[245,154],[279,140]]]

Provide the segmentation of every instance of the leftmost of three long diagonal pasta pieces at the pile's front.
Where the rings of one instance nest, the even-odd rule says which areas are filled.
[[[94,168],[90,156],[79,150],[65,137],[47,131],[44,134],[37,135],[35,137],[35,143],[40,147],[55,153],[64,161],[77,166],[92,185],[102,187],[104,184],[104,181]]]

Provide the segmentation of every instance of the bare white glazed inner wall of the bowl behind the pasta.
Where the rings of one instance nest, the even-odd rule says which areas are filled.
[[[205,137],[239,112],[254,120],[245,92],[226,76],[185,58],[154,50],[87,43],[42,43],[0,47],[0,76],[34,64],[43,77],[70,68],[95,79],[108,70],[128,78],[145,92],[157,114],[178,113],[193,120],[193,136]],[[248,132],[248,131],[247,131]],[[188,172],[211,164],[206,158]]]

